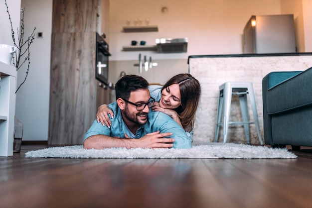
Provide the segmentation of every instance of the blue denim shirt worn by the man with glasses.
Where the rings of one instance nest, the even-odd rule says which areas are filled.
[[[110,118],[112,122],[111,128],[103,126],[94,120],[93,124],[84,136],[84,140],[93,135],[107,135],[111,137],[125,138],[125,132],[128,132],[126,123],[123,121],[121,110],[117,105],[117,102],[108,105],[114,112],[114,118]],[[187,149],[191,148],[191,139],[187,136],[184,129],[177,124],[170,116],[158,112],[152,111],[148,113],[148,121],[146,124],[141,125],[137,130],[135,138],[139,139],[148,133],[160,131],[160,133],[171,132],[172,135],[167,138],[174,138],[173,148]]]

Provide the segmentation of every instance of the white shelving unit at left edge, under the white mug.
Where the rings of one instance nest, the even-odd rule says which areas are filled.
[[[16,69],[0,62],[0,156],[13,155]]]

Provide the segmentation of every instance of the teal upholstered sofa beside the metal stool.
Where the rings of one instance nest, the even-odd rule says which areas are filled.
[[[312,146],[312,68],[271,72],[262,80],[265,144]]]

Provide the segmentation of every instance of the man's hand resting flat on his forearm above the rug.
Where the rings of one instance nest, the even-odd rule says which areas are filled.
[[[131,139],[135,147],[141,148],[170,148],[173,147],[174,139],[172,138],[163,138],[165,136],[171,136],[172,133],[159,133],[159,131],[148,133],[140,139]],[[125,138],[129,138],[125,134]],[[133,148],[133,147],[131,147]]]

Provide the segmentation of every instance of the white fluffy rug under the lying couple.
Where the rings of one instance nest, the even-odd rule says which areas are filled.
[[[272,149],[266,146],[252,146],[234,143],[206,143],[194,145],[191,149],[126,149],[103,150],[84,149],[82,145],[50,147],[25,154],[27,158],[232,158],[265,159],[297,158],[287,149]]]

